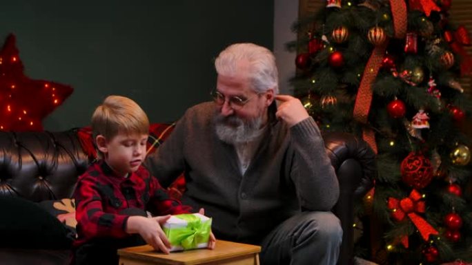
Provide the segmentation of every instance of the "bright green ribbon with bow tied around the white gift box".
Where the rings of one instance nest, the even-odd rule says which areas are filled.
[[[187,221],[186,227],[168,228],[163,227],[170,244],[182,246],[185,250],[197,248],[198,244],[208,242],[210,237],[211,220],[201,222],[200,218],[193,214],[175,215],[176,218]]]

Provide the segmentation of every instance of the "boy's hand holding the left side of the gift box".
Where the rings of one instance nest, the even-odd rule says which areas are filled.
[[[143,216],[130,216],[126,226],[127,233],[139,233],[146,243],[153,246],[156,251],[170,253],[170,242],[161,229],[170,215],[157,216],[155,218],[145,218]]]

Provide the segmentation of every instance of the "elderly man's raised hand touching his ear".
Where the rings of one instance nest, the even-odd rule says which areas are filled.
[[[284,120],[288,127],[292,127],[309,117],[308,112],[306,112],[298,98],[288,95],[277,95],[275,100],[280,102],[275,116]]]

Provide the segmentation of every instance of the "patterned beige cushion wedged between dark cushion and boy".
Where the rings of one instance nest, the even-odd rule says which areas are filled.
[[[75,219],[74,199],[65,198],[61,200],[44,200],[38,202],[38,204],[63,224],[68,231],[68,237],[70,240],[74,240],[77,237],[75,230],[77,220]]]

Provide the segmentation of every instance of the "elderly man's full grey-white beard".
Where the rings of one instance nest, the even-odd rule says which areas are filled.
[[[215,128],[218,138],[230,145],[250,142],[259,136],[262,116],[244,121],[237,116],[215,116]]]

